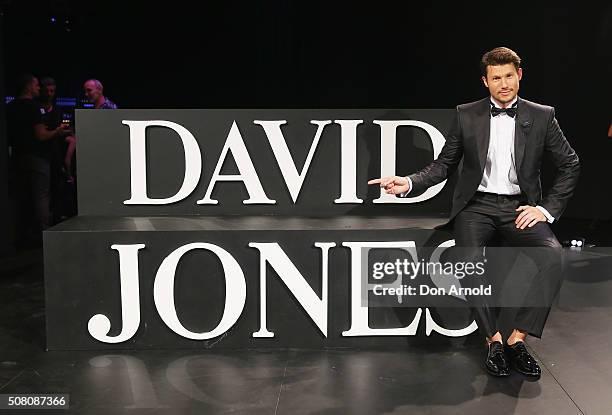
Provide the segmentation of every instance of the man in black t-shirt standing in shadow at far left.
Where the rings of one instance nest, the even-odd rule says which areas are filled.
[[[67,126],[49,129],[34,100],[40,92],[38,79],[19,79],[17,97],[6,107],[7,133],[15,163],[17,184],[18,242],[39,243],[42,230],[50,225],[49,186],[52,140],[69,133]]]

